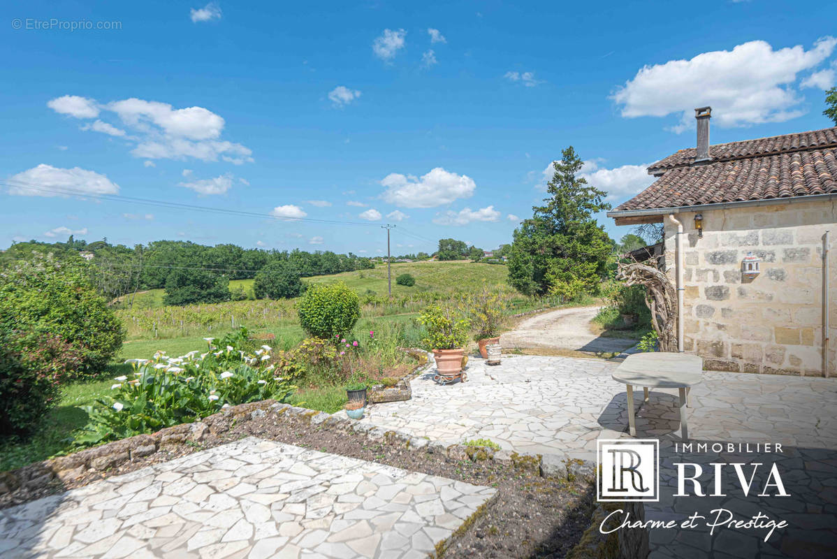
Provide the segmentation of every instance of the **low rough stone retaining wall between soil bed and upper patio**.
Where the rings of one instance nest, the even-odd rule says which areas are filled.
[[[408,433],[360,423],[347,418],[343,412],[322,413],[277,403],[275,400],[264,400],[226,408],[196,423],[182,423],[164,428],[157,433],[124,438],[92,449],[0,473],[0,507],[33,498],[30,496],[15,499],[14,494],[18,491],[21,495],[48,495],[50,489],[52,492],[61,490],[65,483],[79,480],[91,472],[104,474],[109,469],[122,464],[136,459],[146,459],[155,453],[165,451],[170,445],[194,444],[197,449],[210,435],[223,435],[228,433],[234,425],[239,426],[244,422],[254,422],[258,426],[258,422],[264,420],[287,421],[290,424],[305,423],[323,429],[362,434],[373,441],[398,445],[415,452],[444,454],[450,459],[470,459],[475,462],[494,460],[498,464],[509,464],[518,469],[541,474],[543,477],[588,474],[591,471],[590,464],[580,461],[560,461],[550,456],[543,457],[540,454],[517,454],[485,447],[466,447],[461,444],[446,445],[438,441],[429,441],[427,438],[414,437]]]

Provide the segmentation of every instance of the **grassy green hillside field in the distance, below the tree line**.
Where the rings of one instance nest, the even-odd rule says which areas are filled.
[[[506,286],[506,266],[498,264],[480,264],[468,260],[452,262],[398,262],[392,264],[393,296],[418,295],[438,292],[453,293],[480,287],[485,281],[492,286]],[[395,279],[400,274],[411,274],[416,280],[413,287],[397,285]],[[230,290],[244,290],[253,296],[254,280],[230,280]],[[378,264],[374,269],[362,269],[356,272],[343,272],[333,275],[315,275],[303,278],[305,283],[332,284],[344,282],[355,290],[357,295],[387,295],[387,265]],[[165,290],[147,290],[137,293],[133,300],[136,309],[155,309],[162,307]],[[123,305],[124,306],[124,305]]]

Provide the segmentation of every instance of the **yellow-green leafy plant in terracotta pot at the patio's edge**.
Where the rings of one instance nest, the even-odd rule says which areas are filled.
[[[427,330],[422,339],[426,348],[433,351],[439,375],[453,376],[465,367],[465,342],[468,341],[470,322],[457,317],[450,309],[430,305],[422,310],[419,322]]]

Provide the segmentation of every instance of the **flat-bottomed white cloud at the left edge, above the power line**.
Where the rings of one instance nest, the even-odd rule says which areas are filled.
[[[62,169],[41,163],[24,172],[19,172],[8,180],[11,185],[8,193],[15,196],[71,196],[60,192],[48,192],[39,188],[59,188],[79,191],[85,194],[116,194],[119,185],[110,182],[108,177],[98,172],[87,171],[80,167]]]

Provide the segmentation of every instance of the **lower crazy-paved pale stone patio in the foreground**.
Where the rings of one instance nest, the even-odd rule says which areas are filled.
[[[424,557],[495,494],[251,437],[0,510],[0,556]]]

